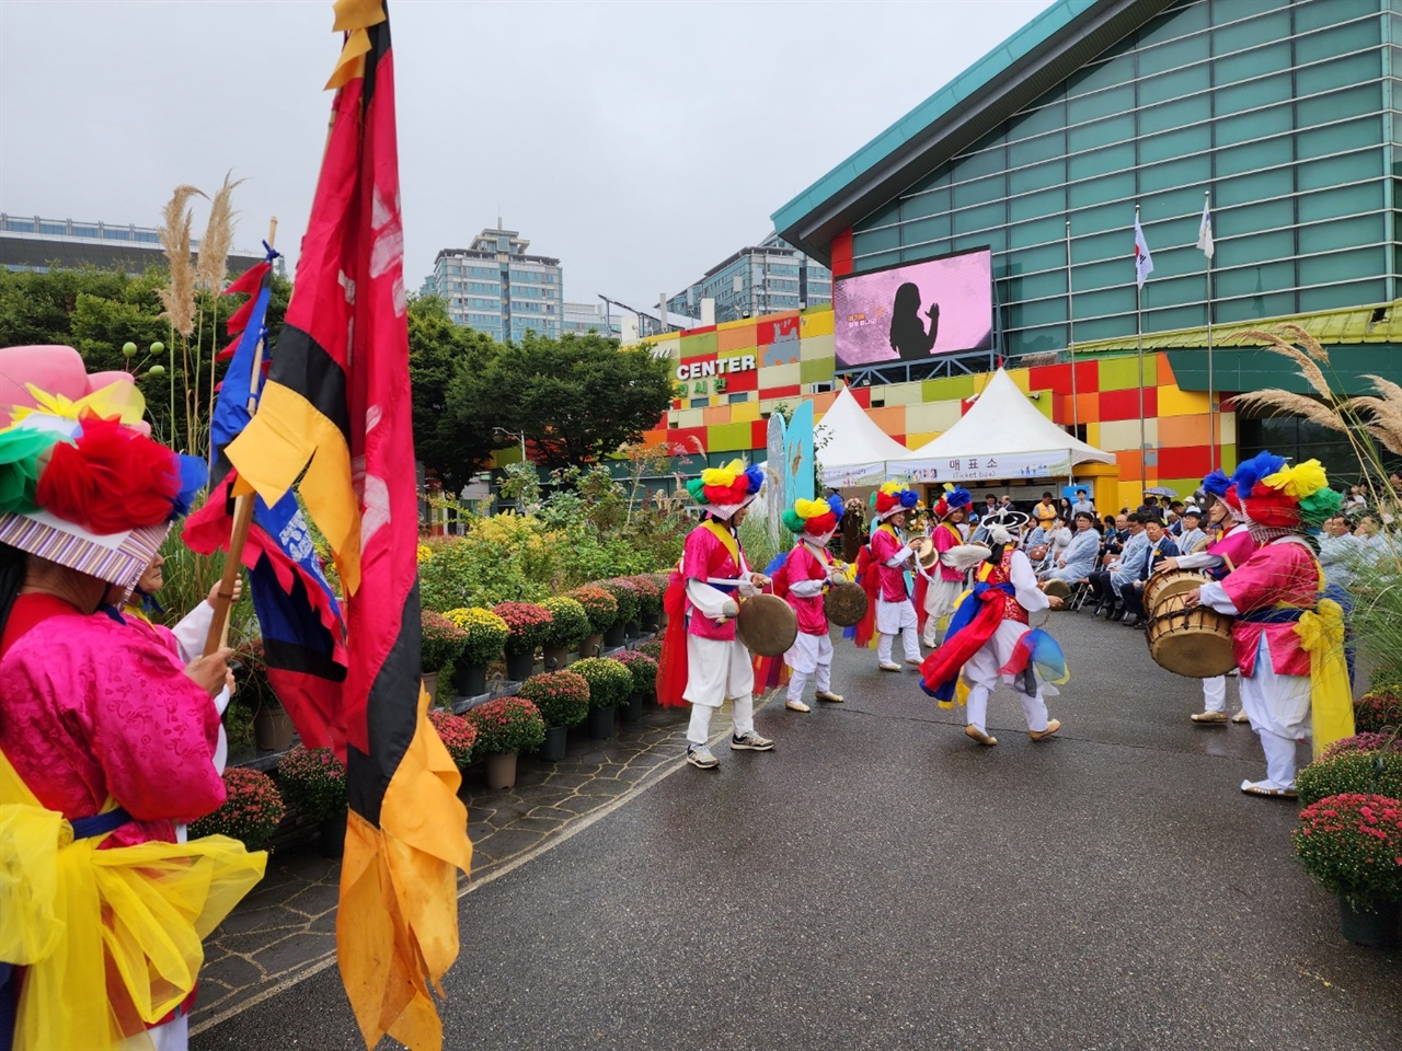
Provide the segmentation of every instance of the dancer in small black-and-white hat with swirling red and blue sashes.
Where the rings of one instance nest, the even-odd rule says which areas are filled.
[[[988,565],[955,611],[944,645],[921,666],[920,685],[948,706],[962,671],[970,682],[965,734],[979,744],[993,746],[998,739],[988,733],[988,696],[1001,677],[1022,695],[1028,736],[1033,741],[1046,740],[1061,729],[1061,723],[1047,719],[1044,696],[1049,687],[1039,668],[1064,682],[1066,663],[1050,635],[1029,628],[1028,614],[1057,610],[1061,598],[1037,589],[1032,563],[1018,548],[1028,516],[1001,511],[986,523],[993,541]]]

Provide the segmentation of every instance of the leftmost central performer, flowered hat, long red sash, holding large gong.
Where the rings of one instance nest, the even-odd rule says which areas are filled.
[[[711,751],[711,715],[726,699],[735,723],[730,748],[770,751],[774,741],[754,731],[754,667],[750,652],[736,639],[736,597],[758,594],[770,583],[751,573],[736,530],[764,485],[764,472],[739,460],[714,467],[687,482],[705,520],[687,534],[681,566],[673,573],[667,610],[672,615],[663,642],[662,702],[673,703],[679,681],[681,701],[691,705],[687,762],[700,769],[721,765]],[[684,626],[683,626],[684,624]],[[680,638],[684,635],[684,639]]]

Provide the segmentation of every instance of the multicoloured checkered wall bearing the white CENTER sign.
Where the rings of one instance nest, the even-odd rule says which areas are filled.
[[[765,420],[775,406],[812,401],[815,415],[822,418],[837,395],[819,391],[819,385],[840,388],[841,383],[833,380],[830,307],[732,321],[648,342],[672,355],[674,373],[684,366],[688,376],[677,380],[672,409],[646,433],[649,444],[680,443],[690,450],[763,458]],[[753,359],[754,367],[746,359]],[[1211,469],[1207,395],[1179,390],[1165,355],[1144,356],[1144,440],[1154,450],[1147,465],[1140,462],[1138,451],[1134,355],[1077,362],[1074,406],[1068,363],[1009,369],[1008,376],[1023,391],[1050,392],[1032,404],[1054,423],[1085,425],[1085,440],[1115,454],[1119,481],[1105,478],[1096,485],[1102,506],[1137,504],[1141,469],[1147,475],[1144,485],[1165,485],[1179,493],[1196,489]],[[918,448],[953,426],[967,408],[966,399],[979,394],[988,378],[959,376],[857,387],[852,395],[887,434],[907,448]],[[1230,468],[1235,461],[1235,416],[1224,412],[1218,416],[1218,464]]]

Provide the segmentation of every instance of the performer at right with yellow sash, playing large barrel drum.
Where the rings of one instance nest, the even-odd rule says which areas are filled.
[[[1287,467],[1270,453],[1239,464],[1232,488],[1259,547],[1221,583],[1203,584],[1186,601],[1237,618],[1241,702],[1266,754],[1265,779],[1244,781],[1241,790],[1293,799],[1295,743],[1314,736],[1321,750],[1353,733],[1343,611],[1321,598],[1323,572],[1304,535],[1336,513],[1342,497],[1318,460]]]

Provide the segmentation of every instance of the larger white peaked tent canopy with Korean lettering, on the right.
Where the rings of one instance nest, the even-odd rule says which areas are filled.
[[[960,482],[1059,478],[1087,461],[1113,464],[1115,455],[1061,430],[1000,369],[958,423],[890,469],[917,481]]]

